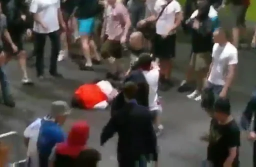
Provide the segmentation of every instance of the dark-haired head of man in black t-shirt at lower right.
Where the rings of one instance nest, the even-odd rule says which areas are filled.
[[[226,121],[231,114],[231,107],[228,98],[218,98],[214,103],[214,117],[220,121]]]

